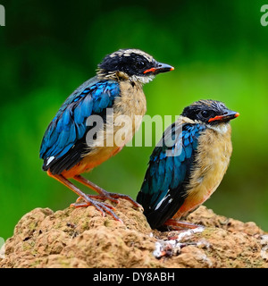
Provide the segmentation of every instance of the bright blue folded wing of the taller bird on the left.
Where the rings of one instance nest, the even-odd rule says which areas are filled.
[[[40,157],[43,169],[61,173],[77,164],[85,148],[88,116],[102,114],[113,106],[120,96],[119,83],[115,80],[86,81],[68,97],[46,129]]]

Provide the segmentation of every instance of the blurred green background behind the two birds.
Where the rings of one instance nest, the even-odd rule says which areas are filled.
[[[77,198],[42,172],[39,146],[64,99],[119,48],[136,47],[175,71],[144,87],[147,114],[180,114],[200,98],[240,113],[233,155],[205,206],[268,231],[268,26],[264,1],[0,1],[0,236],[35,207]],[[155,140],[154,140],[155,144]],[[124,147],[89,180],[136,198],[153,147]],[[88,191],[88,189],[81,187]]]

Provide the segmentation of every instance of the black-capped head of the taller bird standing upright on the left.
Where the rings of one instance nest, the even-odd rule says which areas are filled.
[[[158,63],[153,56],[138,49],[121,49],[106,55],[98,64],[98,74],[117,76],[123,79],[147,83],[160,72],[172,71],[174,68],[166,63]]]

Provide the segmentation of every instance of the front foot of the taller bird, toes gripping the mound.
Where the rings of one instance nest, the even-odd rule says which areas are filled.
[[[113,206],[109,206],[105,203],[102,203],[102,202],[99,202],[93,198],[99,198],[101,196],[93,196],[93,195],[87,195],[87,199],[86,198],[83,198],[84,199],[84,202],[79,202],[80,199],[82,199],[82,197],[78,198],[76,200],[76,202],[74,204],[71,204],[70,206],[71,207],[87,207],[87,206],[95,206],[96,209],[103,215],[105,216],[105,213],[106,214],[111,214],[113,216],[113,219],[115,221],[118,221],[118,222],[121,222],[121,219],[116,215],[114,214],[113,210],[115,209]]]

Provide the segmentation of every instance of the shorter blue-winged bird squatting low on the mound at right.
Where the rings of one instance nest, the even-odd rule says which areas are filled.
[[[202,99],[164,130],[136,199],[152,229],[197,227],[180,220],[220,185],[232,153],[230,120],[238,116],[220,101]]]

